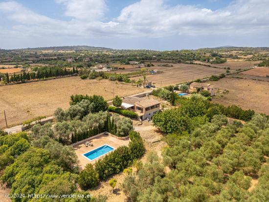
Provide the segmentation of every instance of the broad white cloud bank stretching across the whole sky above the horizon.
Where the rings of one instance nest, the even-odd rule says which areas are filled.
[[[123,8],[110,22],[104,22],[108,10],[105,0],[56,2],[64,6],[71,20],[40,15],[16,1],[0,2],[0,12],[15,23],[5,33],[14,37],[85,39],[269,33],[269,0],[235,0],[215,11],[195,5],[169,6],[164,0],[140,0]]]

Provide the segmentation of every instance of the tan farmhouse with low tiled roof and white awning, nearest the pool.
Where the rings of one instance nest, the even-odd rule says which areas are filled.
[[[143,121],[151,117],[160,110],[160,102],[146,97],[125,97],[122,100],[121,108],[136,112],[138,119]]]

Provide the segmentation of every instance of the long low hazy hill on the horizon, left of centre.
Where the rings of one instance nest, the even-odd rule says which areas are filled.
[[[94,47],[89,45],[69,45],[69,46],[51,46],[51,47],[35,47],[35,48],[22,48],[17,50],[112,50],[106,47]]]

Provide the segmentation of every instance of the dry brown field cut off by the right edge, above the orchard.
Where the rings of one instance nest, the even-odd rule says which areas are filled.
[[[225,77],[210,83],[217,89],[229,90],[229,93],[223,94],[224,97],[213,98],[213,102],[269,114],[269,82]]]

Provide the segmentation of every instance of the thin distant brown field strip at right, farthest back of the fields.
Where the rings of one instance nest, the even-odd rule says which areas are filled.
[[[210,64],[210,63],[195,61],[195,63],[210,65],[212,67],[220,67],[220,68],[230,67],[230,69],[233,69],[233,70],[247,69],[247,68],[254,67],[257,64],[259,64],[258,61],[254,61],[254,62],[252,62],[252,61],[231,61],[231,62],[226,62],[226,63],[222,63],[222,64]]]

